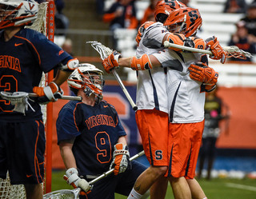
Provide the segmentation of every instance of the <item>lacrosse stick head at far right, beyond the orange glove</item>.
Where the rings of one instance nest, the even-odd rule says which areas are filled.
[[[223,50],[225,51],[226,58],[246,59],[246,58],[253,57],[252,54],[239,49],[238,46],[226,46],[226,47],[223,47]]]

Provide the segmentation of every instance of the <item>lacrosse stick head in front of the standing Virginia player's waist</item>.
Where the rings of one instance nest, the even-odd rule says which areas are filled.
[[[28,109],[28,93],[26,92],[4,92],[1,91],[3,99],[10,101],[11,105],[15,105],[13,111],[25,114],[25,110]]]

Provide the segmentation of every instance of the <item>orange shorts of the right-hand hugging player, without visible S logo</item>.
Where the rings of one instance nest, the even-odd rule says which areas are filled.
[[[169,124],[170,166],[166,176],[194,178],[203,128],[204,121]]]

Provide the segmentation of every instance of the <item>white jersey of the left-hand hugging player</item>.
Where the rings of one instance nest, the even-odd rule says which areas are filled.
[[[139,58],[142,54],[154,54],[163,50],[162,39],[168,30],[160,22],[149,26],[143,33],[136,51]],[[162,67],[151,70],[138,70],[136,105],[138,109],[159,109],[168,113],[166,94],[166,73]]]

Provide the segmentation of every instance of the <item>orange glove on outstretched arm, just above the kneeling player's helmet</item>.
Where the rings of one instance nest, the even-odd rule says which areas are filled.
[[[118,68],[118,59],[122,58],[122,54],[119,54],[116,50],[102,61],[102,66],[106,70],[106,73],[110,73],[114,68]]]

